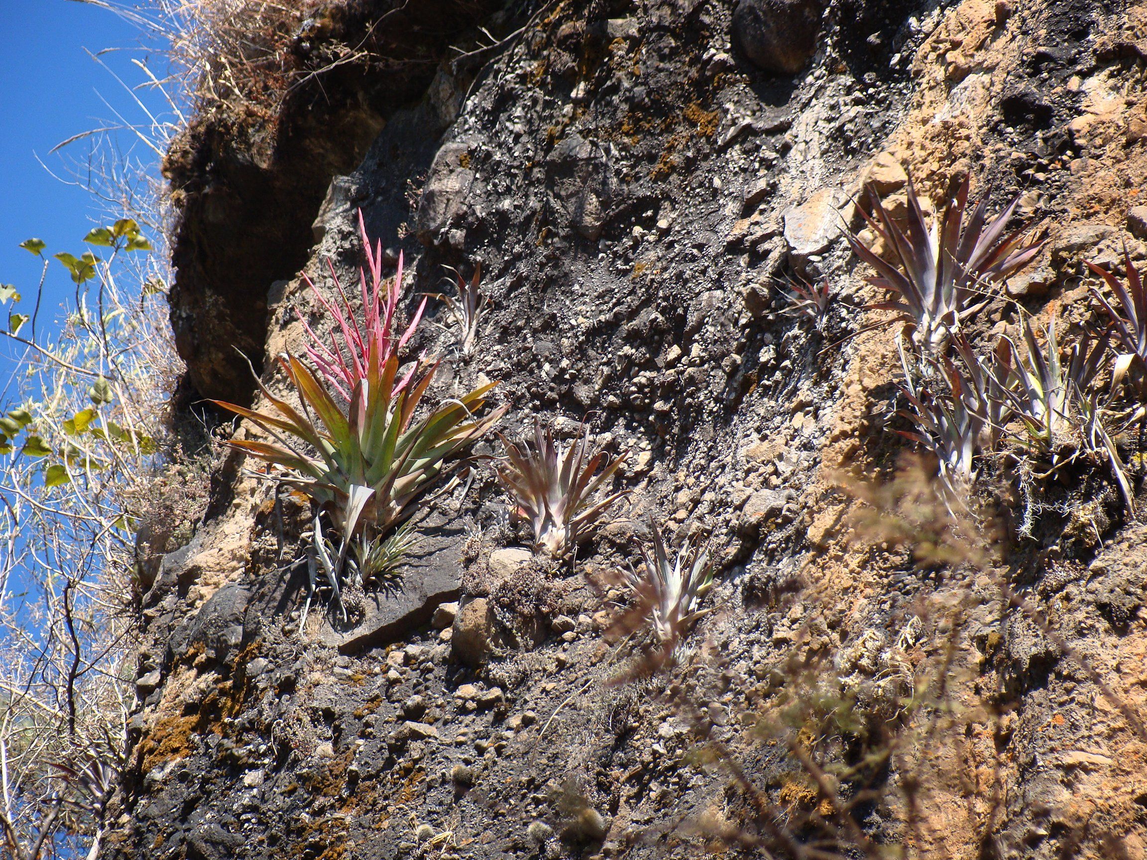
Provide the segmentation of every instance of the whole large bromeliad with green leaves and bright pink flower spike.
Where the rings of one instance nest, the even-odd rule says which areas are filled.
[[[366,585],[393,573],[412,540],[406,532],[391,532],[412,516],[414,506],[434,486],[467,463],[468,448],[505,413],[501,408],[486,417],[477,416],[494,385],[491,383],[416,417],[438,365],[419,357],[400,376],[399,352],[416,330],[426,299],[396,336],[401,256],[388,284],[382,276],[382,245],[372,249],[361,211],[359,230],[367,258],[367,267],[359,271],[365,325],[356,321],[331,267],[341,304],[328,302],[311,284],[336,323],[330,345],[303,320],[310,341],[306,354],[317,372],[290,354],[278,359],[298,393],[301,408],[275,397],[262,383],[259,388],[275,414],[214,401],[274,439],[233,440],[233,447],[278,468],[279,480],[318,503],[310,560],[312,594],[321,566],[340,605],[340,584],[346,577],[352,544],[359,546],[350,565],[351,580]],[[323,537],[319,516],[323,513],[341,535],[334,552]]]

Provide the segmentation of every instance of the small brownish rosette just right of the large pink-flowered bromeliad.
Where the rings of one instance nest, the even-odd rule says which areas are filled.
[[[553,427],[533,425],[533,445],[515,445],[499,433],[506,459],[498,466],[498,477],[517,516],[533,526],[535,547],[560,558],[585,535],[593,523],[615,501],[622,490],[602,495],[599,491],[624,462],[627,452],[604,468],[606,452],[590,451],[590,435],[583,424],[578,436],[563,447],[554,439]],[[599,471],[600,469],[600,471]]]

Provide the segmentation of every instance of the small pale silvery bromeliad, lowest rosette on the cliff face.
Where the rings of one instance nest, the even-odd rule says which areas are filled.
[[[709,611],[700,607],[712,587],[713,569],[709,549],[697,535],[670,562],[661,529],[651,517],[649,524],[651,540],[640,545],[641,570],[631,570],[626,581],[656,650],[670,657]]]

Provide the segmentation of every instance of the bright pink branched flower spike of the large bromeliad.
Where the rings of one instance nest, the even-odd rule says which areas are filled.
[[[350,400],[351,392],[356,390],[358,383],[368,377],[372,359],[377,361],[379,366],[382,366],[391,355],[397,355],[406,345],[422,320],[422,312],[427,305],[427,299],[423,298],[406,329],[401,335],[395,335],[395,315],[403,292],[403,255],[399,252],[398,271],[393,280],[388,283],[382,277],[382,242],[380,241],[377,245],[372,248],[370,240],[366,234],[362,210],[359,210],[359,233],[362,236],[362,247],[366,249],[367,263],[366,268],[359,268],[359,282],[365,314],[364,325],[359,326],[354,316],[354,311],[346,298],[343,286],[338,281],[338,275],[335,273],[334,264],[330,260],[327,260],[327,265],[330,267],[330,277],[334,281],[335,290],[338,292],[338,299],[341,300],[328,300],[311,282],[311,279],[303,275],[303,280],[306,281],[315,298],[319,299],[319,304],[326,308],[336,323],[330,330],[329,344],[307,325],[302,313],[296,310],[296,315],[298,315],[310,338],[310,343],[305,347],[307,358],[311,359],[315,369],[322,375],[326,382],[348,400]],[[396,381],[392,396],[398,394],[409,384],[419,363],[415,362],[409,373]],[[366,388],[359,386],[358,390],[360,391],[360,397],[365,398]]]

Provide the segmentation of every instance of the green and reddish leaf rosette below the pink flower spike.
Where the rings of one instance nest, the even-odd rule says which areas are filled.
[[[233,440],[228,444],[287,471],[282,477],[329,511],[344,542],[368,523],[382,535],[413,514],[414,505],[440,478],[463,462],[460,455],[505,414],[505,407],[478,419],[485,397],[497,383],[442,402],[415,420],[437,365],[418,367],[401,390],[395,386],[398,357],[385,360],[370,346],[366,374],[343,408],[323,383],[294,355],[279,365],[299,396],[302,411],[272,394],[263,394],[278,414],[235,404],[218,406],[245,417],[275,443]],[[313,452],[313,453],[312,453]]]

